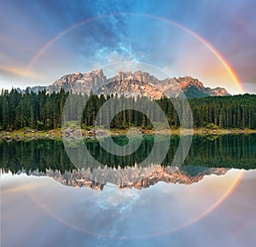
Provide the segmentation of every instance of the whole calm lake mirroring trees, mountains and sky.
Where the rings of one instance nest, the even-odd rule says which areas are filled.
[[[125,156],[88,139],[81,167],[62,141],[0,142],[1,246],[254,246],[256,135],[195,135],[173,167],[179,141],[156,164],[152,135]]]

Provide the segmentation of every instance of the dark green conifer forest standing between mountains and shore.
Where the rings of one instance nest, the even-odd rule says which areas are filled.
[[[61,127],[63,107],[69,93],[61,89],[58,93],[47,94],[40,91],[38,94],[29,92],[19,93],[16,89],[2,90],[0,95],[0,130],[14,129],[56,129]],[[126,129],[138,126],[144,129],[152,129],[150,119],[157,122],[158,112],[152,111],[150,101],[147,97],[130,97],[124,95],[73,95],[72,111],[70,119],[79,118],[79,112],[83,112],[81,126],[90,129],[96,124],[96,114],[101,106],[111,100],[106,109],[106,116],[114,112],[114,107],[122,109],[123,106],[130,108],[119,112],[111,121],[113,129]],[[84,102],[87,102],[84,105]],[[168,98],[155,100],[165,112],[170,128],[180,127],[177,115],[177,106],[182,106],[183,99],[175,98],[172,101]],[[175,102],[175,106],[173,106]],[[134,106],[138,104],[145,106],[147,114],[138,112]],[[85,107],[84,107],[85,106]],[[147,109],[148,106],[148,109]],[[195,128],[248,128],[256,129],[256,95],[231,95],[231,96],[210,96],[203,98],[189,99],[189,106],[193,115]],[[106,121],[105,121],[106,122]],[[100,123],[105,126],[104,121]],[[99,124],[99,123],[97,123]]]

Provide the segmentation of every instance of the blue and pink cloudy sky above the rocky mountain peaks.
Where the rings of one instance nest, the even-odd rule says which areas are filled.
[[[255,26],[253,0],[1,0],[0,88],[130,61],[255,94]]]

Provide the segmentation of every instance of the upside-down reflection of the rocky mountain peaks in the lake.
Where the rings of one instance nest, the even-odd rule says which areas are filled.
[[[205,168],[183,166],[180,169],[171,171],[170,167],[152,165],[147,168],[127,167],[125,169],[81,169],[66,171],[61,174],[60,171],[52,169],[45,173],[32,171],[32,175],[46,175],[70,187],[90,187],[96,190],[102,190],[108,183],[115,184],[119,188],[142,189],[157,184],[159,181],[166,183],[179,183],[190,185],[201,181],[205,175],[224,175],[228,169],[224,168]]]

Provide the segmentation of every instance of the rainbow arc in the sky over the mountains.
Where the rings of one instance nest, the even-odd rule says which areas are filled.
[[[155,20],[162,20],[165,21],[166,23],[171,24],[172,26],[177,26],[178,28],[181,28],[184,32],[189,33],[191,36],[195,37],[198,41],[200,41],[201,43],[203,43],[207,49],[209,49],[213,55],[215,55],[215,57],[221,62],[221,64],[224,66],[224,68],[226,69],[227,72],[230,73],[231,78],[234,80],[234,82],[236,83],[237,88],[241,91],[241,93],[245,92],[245,89],[241,83],[240,78],[238,77],[238,75],[236,74],[235,70],[232,68],[232,66],[230,66],[229,62],[227,60],[225,60],[224,55],[222,55],[218,49],[216,49],[215,47],[212,46],[211,43],[209,43],[204,37],[201,37],[198,33],[192,31],[191,29],[189,29],[186,26],[183,26],[173,20],[169,20],[166,18],[162,18],[159,16],[154,16],[152,14],[137,14],[137,13],[117,13],[117,14],[104,14],[101,16],[97,16],[97,17],[92,17],[90,19],[86,19],[86,20],[82,20],[79,21],[78,23],[74,24],[73,26],[69,26],[67,29],[65,29],[64,31],[60,32],[59,34],[57,34],[55,37],[53,37],[52,39],[49,40],[48,43],[45,43],[44,46],[38,50],[38,52],[36,53],[36,55],[33,56],[32,60],[29,62],[28,66],[26,67],[26,70],[23,74],[23,76],[26,76],[26,74],[29,72],[30,68],[32,67],[32,65],[35,63],[36,60],[38,60],[38,58],[40,57],[40,55],[42,55],[44,53],[44,51],[46,49],[49,48],[50,45],[52,45],[53,43],[55,43],[55,41],[57,41],[60,37],[66,35],[68,32],[73,31],[75,28],[82,26],[86,23],[89,23],[91,21],[94,20],[100,20],[100,19],[104,19],[109,17],[110,15],[135,15],[135,16],[144,16],[144,17],[150,17],[153,18]]]

